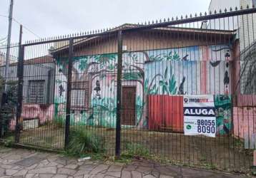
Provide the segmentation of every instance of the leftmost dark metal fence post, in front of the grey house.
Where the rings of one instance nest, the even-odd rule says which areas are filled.
[[[23,100],[23,71],[24,71],[24,46],[21,45],[22,38],[22,26],[19,31],[19,61],[17,68],[18,78],[18,96],[17,96],[17,108],[16,108],[16,127],[15,127],[15,142],[19,142],[20,130],[21,130],[21,112],[22,112],[22,100]]]

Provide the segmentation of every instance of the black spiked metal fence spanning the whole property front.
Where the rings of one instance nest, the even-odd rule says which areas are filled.
[[[250,172],[255,13],[248,7],[126,23],[11,46],[19,63],[10,63],[8,76],[4,64],[0,72],[18,83],[18,104],[8,122],[1,115],[1,124],[23,145],[75,145],[87,152]],[[185,122],[189,97],[212,98],[214,119],[197,120],[199,135],[189,134]]]

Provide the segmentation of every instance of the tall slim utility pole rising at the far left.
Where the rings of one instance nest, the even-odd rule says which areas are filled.
[[[7,49],[6,49],[6,61],[5,61],[5,70],[4,70],[4,92],[7,91],[7,80],[8,80],[8,70],[9,70],[9,60],[10,60],[10,47],[11,47],[11,23],[12,23],[12,11],[14,9],[14,0],[11,0],[10,9],[9,9],[9,27],[8,27],[8,38],[7,38]]]

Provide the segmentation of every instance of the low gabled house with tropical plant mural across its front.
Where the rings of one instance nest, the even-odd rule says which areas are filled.
[[[135,26],[124,24],[112,29],[112,34],[74,42],[72,124],[115,127],[117,30]],[[154,105],[149,105],[149,95],[174,95],[180,100],[182,95],[212,94],[216,103],[220,103],[218,107],[228,115],[232,109],[230,94],[235,92],[237,80],[232,60],[236,53],[240,53],[235,36],[236,31],[181,27],[124,33],[122,126],[149,127],[152,130],[168,127],[182,132],[182,124],[175,126],[164,120],[156,122],[159,116],[147,113],[157,110]],[[60,48],[51,51],[56,61],[56,116],[65,113],[68,52],[68,43],[61,43]],[[225,108],[222,108],[223,100],[227,104]],[[179,118],[182,107],[176,109]],[[164,108],[159,110],[164,113],[162,117],[168,117],[166,120],[175,120],[174,116],[167,116]],[[219,133],[225,134],[232,125],[231,117],[225,117],[224,122],[222,116],[220,120]]]

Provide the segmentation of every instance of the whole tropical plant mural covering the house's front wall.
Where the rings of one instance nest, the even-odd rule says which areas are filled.
[[[122,85],[136,87],[137,124],[132,127],[147,126],[147,95],[229,93],[227,53],[227,46],[123,53]],[[72,103],[71,123],[115,127],[116,93],[117,53],[74,57],[72,101],[79,99],[80,105]],[[58,58],[55,117],[65,114],[66,95],[67,58]]]

